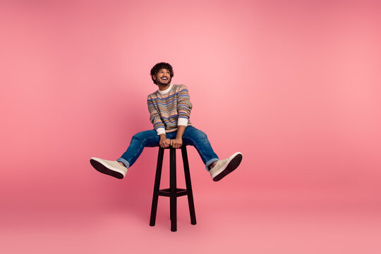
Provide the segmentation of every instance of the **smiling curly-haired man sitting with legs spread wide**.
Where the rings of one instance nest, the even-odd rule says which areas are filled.
[[[116,161],[92,157],[90,163],[97,171],[123,179],[143,152],[144,147],[179,148],[183,143],[193,145],[213,181],[219,181],[234,171],[241,163],[242,154],[236,152],[220,160],[214,153],[207,135],[193,126],[191,117],[192,103],[186,85],[172,85],[174,71],[169,63],[157,63],[151,69],[151,78],[159,89],[147,97],[150,121],[153,130],[140,131],[131,138],[126,152]]]

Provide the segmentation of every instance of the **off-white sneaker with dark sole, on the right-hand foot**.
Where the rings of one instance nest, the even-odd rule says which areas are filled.
[[[231,171],[234,171],[242,160],[241,152],[236,152],[234,155],[227,159],[222,159],[217,161],[212,169],[210,169],[210,176],[212,176],[213,181],[219,181],[224,178]]]

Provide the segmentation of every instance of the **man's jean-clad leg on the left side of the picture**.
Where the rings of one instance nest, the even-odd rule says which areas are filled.
[[[126,152],[121,155],[117,162],[122,162],[126,168],[131,167],[143,152],[144,147],[159,146],[159,135],[155,130],[140,131],[131,138],[131,143]]]

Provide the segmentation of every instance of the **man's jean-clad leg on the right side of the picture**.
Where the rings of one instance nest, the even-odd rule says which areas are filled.
[[[219,157],[213,151],[207,139],[207,135],[203,131],[198,130],[198,128],[187,126],[183,133],[183,142],[186,145],[193,145],[195,147],[207,171],[210,170],[208,168],[210,165],[216,164],[219,160]]]

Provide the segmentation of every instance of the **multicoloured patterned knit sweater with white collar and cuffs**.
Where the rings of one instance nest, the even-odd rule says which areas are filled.
[[[193,126],[192,103],[186,85],[169,85],[167,90],[157,90],[147,96],[150,121],[157,135],[177,131],[177,126]]]

